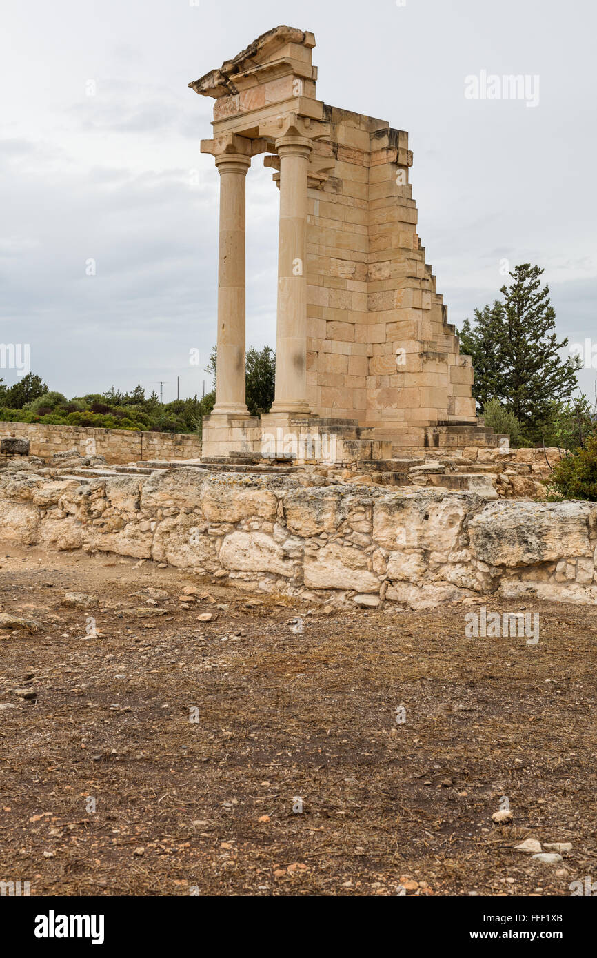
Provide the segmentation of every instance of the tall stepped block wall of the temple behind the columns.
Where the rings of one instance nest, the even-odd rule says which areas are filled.
[[[401,432],[474,422],[471,356],[460,354],[417,234],[408,134],[323,106],[333,167],[309,190],[308,384],[322,416]],[[381,433],[380,433],[381,434]]]

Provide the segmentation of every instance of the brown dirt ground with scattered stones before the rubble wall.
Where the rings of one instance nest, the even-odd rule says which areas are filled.
[[[564,896],[597,878],[597,608],[535,605],[528,646],[465,637],[475,606],[326,614],[6,545],[0,586],[3,612],[42,624],[0,629],[0,880]],[[504,797],[513,822],[494,825]],[[573,848],[543,864],[513,850],[529,836]]]

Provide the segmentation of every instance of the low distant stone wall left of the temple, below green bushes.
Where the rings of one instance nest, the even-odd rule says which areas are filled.
[[[46,459],[77,448],[81,456],[104,456],[108,465],[142,459],[198,459],[201,442],[194,435],[142,432],[128,429],[89,429],[87,426],[44,425],[38,422],[0,422],[0,438],[28,439],[32,456]]]

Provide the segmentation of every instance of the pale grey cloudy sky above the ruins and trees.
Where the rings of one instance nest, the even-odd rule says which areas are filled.
[[[199,152],[213,101],[187,84],[280,23],[315,34],[318,99],[408,130],[419,233],[450,321],[493,301],[502,261],[536,262],[559,331],[597,346],[593,0],[3,10],[1,339],[31,344],[51,389],[164,380],[169,400],[176,376],[181,396],[209,388],[189,351],[206,360],[216,338],[218,173]],[[467,99],[465,78],[483,70],[539,77],[539,103]],[[247,344],[274,346],[278,191],[263,157],[247,203]],[[594,375],[581,374],[586,390]]]

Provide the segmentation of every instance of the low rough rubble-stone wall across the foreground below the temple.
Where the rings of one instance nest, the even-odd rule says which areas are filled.
[[[0,528],[5,542],[155,559],[315,602],[597,604],[591,503],[315,488],[195,468],[81,482],[7,468]]]

